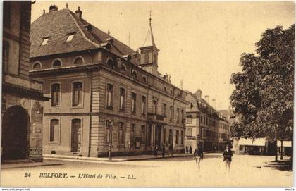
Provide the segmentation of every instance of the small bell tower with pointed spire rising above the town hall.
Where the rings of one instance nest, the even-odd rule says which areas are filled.
[[[152,26],[151,26],[151,11],[150,11],[150,18],[149,18],[149,29],[144,41],[144,44],[142,47],[140,47],[141,51],[141,62],[140,66],[147,70],[147,72],[152,73],[153,75],[158,75],[158,54],[159,49],[157,49],[153,32],[152,32]]]

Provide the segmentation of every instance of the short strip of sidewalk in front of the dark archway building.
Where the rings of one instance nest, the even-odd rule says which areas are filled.
[[[1,164],[1,169],[8,168],[27,168],[35,166],[53,166],[63,165],[61,161],[43,161],[43,162],[29,162],[29,163],[16,163],[16,164]]]

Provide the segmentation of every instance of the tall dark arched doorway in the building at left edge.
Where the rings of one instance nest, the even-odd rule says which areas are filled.
[[[28,158],[29,115],[21,106],[11,106],[2,121],[2,159]]]

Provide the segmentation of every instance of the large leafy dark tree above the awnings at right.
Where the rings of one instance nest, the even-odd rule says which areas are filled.
[[[292,140],[295,25],[266,30],[256,43],[257,54],[242,54],[242,72],[234,73],[230,96],[240,121],[233,136]],[[277,154],[276,154],[277,156]],[[277,158],[276,158],[277,159]]]

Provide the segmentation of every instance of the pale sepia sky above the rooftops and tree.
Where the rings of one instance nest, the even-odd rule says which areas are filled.
[[[32,4],[32,21],[43,9],[75,12],[121,42],[137,49],[144,43],[152,10],[152,30],[159,51],[159,72],[171,75],[183,90],[202,90],[216,109],[228,109],[232,73],[240,71],[240,55],[253,53],[254,43],[267,28],[295,23],[292,1],[37,1]]]

